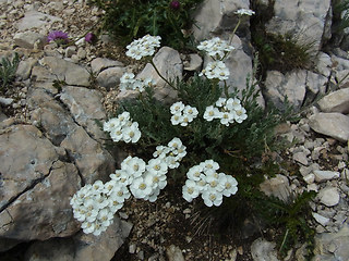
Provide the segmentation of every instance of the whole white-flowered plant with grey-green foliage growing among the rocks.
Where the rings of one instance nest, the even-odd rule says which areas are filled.
[[[110,174],[108,183],[86,185],[71,200],[85,233],[99,235],[105,231],[131,195],[154,202],[167,185],[181,190],[184,200],[203,208],[206,220],[220,227],[239,226],[267,200],[258,190],[260,184],[278,167],[262,158],[277,146],[274,128],[287,115],[258,105],[254,80],[257,61],[243,90],[229,88],[226,79],[230,73],[224,60],[233,48],[229,41],[213,38],[197,46],[212,58],[200,74],[185,82],[169,80],[152,60],[160,40],[151,35],[136,39],[128,45],[127,55],[148,61],[177,91],[178,100],[172,104],[158,101],[152,79],[123,74],[120,89],[136,91],[137,97],[121,101],[117,115],[104,123],[104,130],[129,157]],[[287,212],[290,220],[303,210],[298,206]],[[288,220],[286,224],[290,224],[288,234],[293,236],[294,225]]]

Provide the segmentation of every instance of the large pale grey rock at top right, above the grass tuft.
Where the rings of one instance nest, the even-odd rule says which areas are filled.
[[[274,12],[275,16],[266,24],[269,33],[294,35],[300,45],[312,44],[314,51],[330,37],[330,0],[276,0]]]

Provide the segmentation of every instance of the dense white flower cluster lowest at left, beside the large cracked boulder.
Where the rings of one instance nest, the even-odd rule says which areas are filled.
[[[84,233],[98,236],[112,224],[115,213],[130,196],[129,189],[122,183],[111,179],[103,184],[97,181],[82,187],[70,200],[70,204],[74,217],[82,222]]]

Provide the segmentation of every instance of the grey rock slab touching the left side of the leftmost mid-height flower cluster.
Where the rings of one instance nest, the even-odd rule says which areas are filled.
[[[105,133],[95,122],[106,120],[106,112],[101,103],[103,95],[98,90],[64,86],[60,99],[67,104],[74,120],[89,134],[99,140],[106,138]]]

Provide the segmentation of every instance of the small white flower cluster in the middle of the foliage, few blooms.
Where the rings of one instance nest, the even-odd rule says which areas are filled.
[[[198,114],[195,107],[184,105],[181,101],[174,102],[170,107],[170,111],[172,125],[180,124],[181,126],[188,126]]]

